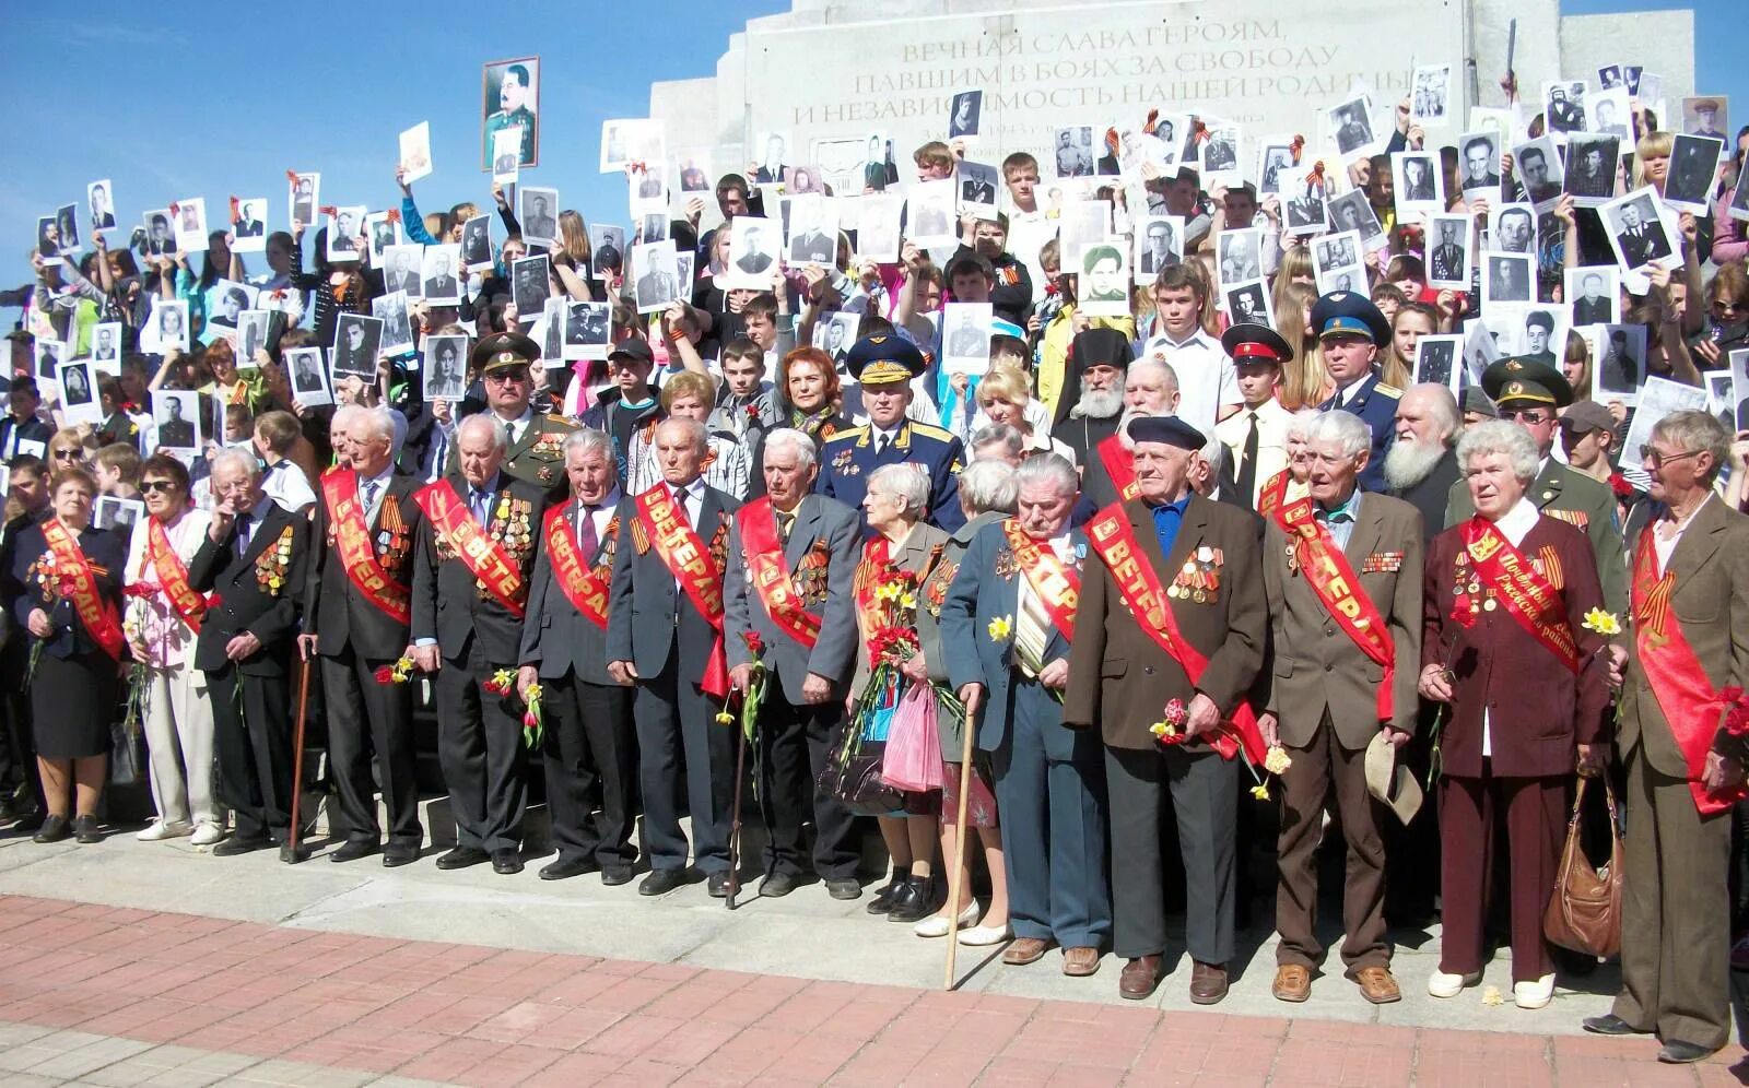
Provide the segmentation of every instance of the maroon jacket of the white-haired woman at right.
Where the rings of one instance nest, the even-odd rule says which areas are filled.
[[[1562,591],[1567,624],[1579,647],[1574,675],[1504,607],[1476,612],[1464,628],[1452,619],[1462,527],[1434,537],[1427,547],[1422,596],[1422,668],[1445,665],[1453,673],[1452,712],[1439,752],[1448,775],[1481,775],[1481,717],[1488,715],[1492,771],[1501,777],[1569,775],[1576,743],[1607,742],[1609,665],[1599,658],[1604,640],[1581,624],[1604,607],[1597,561],[1585,534],[1541,516],[1518,553],[1543,567]],[[1548,563],[1553,556],[1553,567]],[[1474,567],[1464,567],[1467,579]]]

